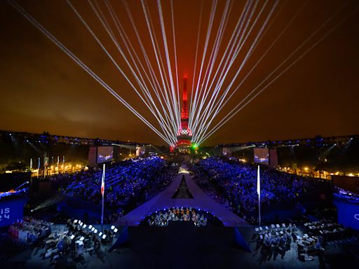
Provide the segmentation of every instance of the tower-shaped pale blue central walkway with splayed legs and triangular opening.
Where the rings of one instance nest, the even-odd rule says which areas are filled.
[[[175,195],[175,193],[181,190],[179,187],[183,178],[187,186],[187,191],[191,194],[189,198],[184,198],[183,195]],[[151,200],[126,214],[126,216],[118,219],[116,224],[138,226],[149,214],[170,207],[192,207],[208,211],[210,214],[217,216],[226,227],[249,225],[239,216],[215,202],[215,200],[202,191],[183,167],[179,168],[179,174],[177,174],[176,179],[172,181],[170,186],[165,188],[161,193],[158,193],[158,195]]]

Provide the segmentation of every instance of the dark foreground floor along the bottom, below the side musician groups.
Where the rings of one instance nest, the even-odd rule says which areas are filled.
[[[170,223],[166,228],[130,227],[130,241],[120,249],[108,252],[109,246],[75,260],[63,259],[57,265],[43,258],[43,249],[28,249],[2,263],[1,268],[355,268],[355,259],[346,247],[327,249],[314,261],[299,261],[297,249],[283,257],[262,254],[252,240],[253,229],[240,228],[251,253],[233,241],[233,228],[196,228],[191,223]]]

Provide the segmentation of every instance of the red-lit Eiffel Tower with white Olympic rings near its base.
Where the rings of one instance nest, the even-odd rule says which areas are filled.
[[[177,147],[191,146],[192,132],[188,127],[189,112],[188,112],[188,95],[187,95],[187,76],[183,77],[183,92],[182,92],[182,109],[181,109],[181,127],[177,132]]]

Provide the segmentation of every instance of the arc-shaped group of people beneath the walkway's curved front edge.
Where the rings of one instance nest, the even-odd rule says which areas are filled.
[[[207,223],[215,225],[220,223],[219,219],[212,214],[191,207],[163,209],[147,216],[144,220],[149,226],[159,227],[168,226],[170,221],[192,221],[196,227],[207,226]]]

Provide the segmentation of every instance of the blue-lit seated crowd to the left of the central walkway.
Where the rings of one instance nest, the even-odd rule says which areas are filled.
[[[124,166],[107,167],[104,205],[117,212],[123,212],[131,205],[140,205],[162,191],[175,174],[175,168],[158,157],[133,160]],[[101,177],[102,171],[77,177],[62,193],[100,205]]]

